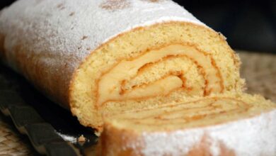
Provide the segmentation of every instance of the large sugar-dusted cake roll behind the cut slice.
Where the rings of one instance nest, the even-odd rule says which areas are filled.
[[[1,11],[0,49],[97,130],[102,113],[243,89],[224,36],[173,1],[16,1]]]

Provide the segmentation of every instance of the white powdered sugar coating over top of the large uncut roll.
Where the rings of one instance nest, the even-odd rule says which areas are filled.
[[[0,33],[9,65],[16,69],[15,49],[21,45],[32,51],[27,58],[45,55],[36,60],[47,67],[45,77],[55,74],[68,84],[74,69],[99,45],[132,28],[166,21],[205,26],[170,0],[19,0],[1,11]]]

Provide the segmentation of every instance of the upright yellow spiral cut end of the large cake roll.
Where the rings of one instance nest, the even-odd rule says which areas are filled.
[[[239,60],[206,26],[159,23],[122,33],[91,53],[71,83],[71,110],[100,128],[101,113],[241,91]]]

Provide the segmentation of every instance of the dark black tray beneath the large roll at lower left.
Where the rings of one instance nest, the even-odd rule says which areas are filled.
[[[0,109],[10,116],[20,133],[28,135],[40,154],[84,155],[93,149],[93,129],[81,126],[76,117],[54,104],[20,74],[0,64]],[[84,135],[85,143],[77,139]]]

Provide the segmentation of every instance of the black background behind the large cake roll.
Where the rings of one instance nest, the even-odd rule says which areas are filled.
[[[276,0],[174,1],[222,32],[232,48],[276,53]],[[0,0],[0,7],[12,2]]]

